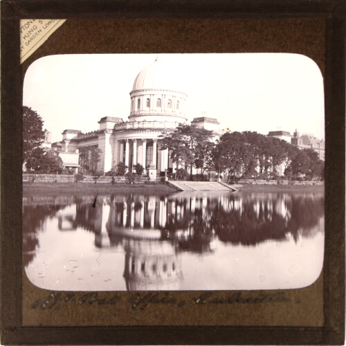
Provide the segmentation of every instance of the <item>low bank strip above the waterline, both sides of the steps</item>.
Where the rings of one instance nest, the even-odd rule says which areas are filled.
[[[324,185],[234,185],[239,192],[324,192]],[[117,183],[23,183],[23,194],[128,194],[136,192],[140,194],[169,194],[176,192],[170,185],[163,183],[124,184]]]

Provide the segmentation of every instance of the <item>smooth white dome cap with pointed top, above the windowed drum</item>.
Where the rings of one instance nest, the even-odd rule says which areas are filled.
[[[166,66],[161,57],[156,57],[152,64],[149,64],[138,73],[132,90],[165,89],[178,91],[180,83],[177,73],[173,69],[172,66]]]

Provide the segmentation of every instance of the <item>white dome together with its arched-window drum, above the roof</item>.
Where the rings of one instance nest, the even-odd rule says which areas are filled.
[[[188,95],[180,89],[179,73],[156,57],[134,80],[129,120],[185,122]]]

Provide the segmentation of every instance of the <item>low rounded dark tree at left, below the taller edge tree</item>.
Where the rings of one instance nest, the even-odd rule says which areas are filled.
[[[61,174],[64,166],[57,152],[35,147],[28,153],[26,169],[39,174]]]

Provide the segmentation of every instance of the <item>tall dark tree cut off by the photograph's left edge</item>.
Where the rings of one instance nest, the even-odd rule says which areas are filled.
[[[44,141],[44,130],[42,129],[44,122],[42,118],[33,111],[33,109],[23,107],[23,148],[22,162],[30,156],[33,149],[39,147]]]

